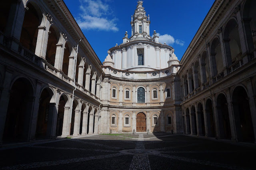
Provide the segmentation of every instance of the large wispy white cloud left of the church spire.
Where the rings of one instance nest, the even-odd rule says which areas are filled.
[[[76,21],[81,29],[118,31],[116,20],[111,17],[109,5],[102,0],[80,0],[80,16]]]

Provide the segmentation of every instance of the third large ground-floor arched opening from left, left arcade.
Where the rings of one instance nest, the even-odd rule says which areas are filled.
[[[62,135],[64,114],[68,114],[68,110],[65,113],[65,106],[66,104],[68,104],[67,101],[68,101],[68,97],[66,95],[61,95],[59,105],[58,105],[56,136]]]

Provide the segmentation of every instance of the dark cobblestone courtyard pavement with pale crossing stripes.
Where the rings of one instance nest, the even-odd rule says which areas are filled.
[[[0,169],[256,169],[255,144],[180,134],[88,135],[0,148]]]

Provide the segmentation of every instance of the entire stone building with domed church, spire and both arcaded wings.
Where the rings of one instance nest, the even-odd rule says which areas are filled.
[[[142,1],[103,63],[63,1],[0,9],[1,142],[160,132],[255,142],[253,0],[216,0],[180,61],[150,36]]]

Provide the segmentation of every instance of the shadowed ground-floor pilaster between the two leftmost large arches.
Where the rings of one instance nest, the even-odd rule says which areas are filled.
[[[31,119],[31,128],[30,128],[30,136],[29,140],[35,140],[36,136],[36,124],[37,124],[37,117],[38,117],[38,109],[39,109],[39,99],[40,99],[40,92],[41,92],[41,85],[42,83],[40,81],[36,82],[36,96],[35,96],[35,102],[32,112],[32,119]]]

